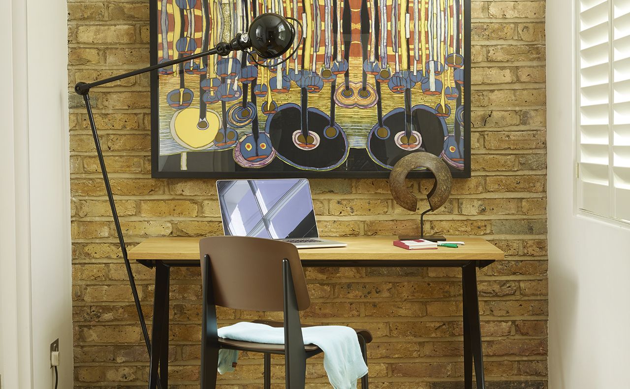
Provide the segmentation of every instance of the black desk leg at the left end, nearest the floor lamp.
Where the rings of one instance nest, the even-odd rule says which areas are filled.
[[[149,389],[156,389],[157,380],[168,388],[168,314],[170,267],[157,262],[156,284],[153,298],[153,328],[151,334],[151,362],[149,363]],[[159,375],[157,368],[159,367]]]

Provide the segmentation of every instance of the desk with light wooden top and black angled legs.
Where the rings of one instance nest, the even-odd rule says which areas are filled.
[[[459,248],[404,250],[393,236],[329,238],[348,247],[299,251],[304,267],[461,267],[464,305],[464,388],[473,387],[473,361],[478,389],[485,388],[476,268],[503,259],[503,252],[482,238],[463,240]],[[149,388],[156,388],[158,367],[162,388],[168,388],[168,314],[170,267],[199,266],[200,238],[149,238],[129,251],[129,258],[156,267]]]

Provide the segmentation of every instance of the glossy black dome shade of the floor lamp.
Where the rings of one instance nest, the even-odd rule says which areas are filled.
[[[288,20],[276,13],[256,16],[249,25],[249,42],[256,54],[265,59],[280,57],[293,44],[295,30]]]

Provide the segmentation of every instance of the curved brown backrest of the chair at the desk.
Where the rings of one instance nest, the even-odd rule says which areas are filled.
[[[239,310],[282,311],[282,260],[289,260],[298,309],[311,305],[297,248],[249,236],[210,236],[199,241],[202,261],[210,257],[214,304]]]

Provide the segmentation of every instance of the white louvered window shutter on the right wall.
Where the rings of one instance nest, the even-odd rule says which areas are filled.
[[[630,221],[630,0],[581,0],[578,208]]]

